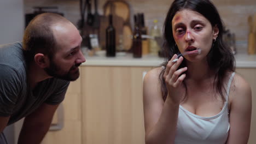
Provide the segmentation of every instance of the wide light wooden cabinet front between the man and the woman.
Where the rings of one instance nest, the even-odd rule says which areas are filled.
[[[143,71],[150,67],[83,67],[82,143],[143,144]]]

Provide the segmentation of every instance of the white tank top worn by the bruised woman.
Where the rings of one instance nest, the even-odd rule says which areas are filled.
[[[229,78],[223,109],[216,116],[197,116],[179,105],[176,144],[222,144],[226,142],[229,135],[228,96],[234,75],[235,72]]]

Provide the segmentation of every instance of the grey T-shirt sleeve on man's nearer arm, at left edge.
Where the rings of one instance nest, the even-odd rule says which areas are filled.
[[[0,64],[0,116],[13,113],[18,95],[22,91],[21,80],[14,68]]]

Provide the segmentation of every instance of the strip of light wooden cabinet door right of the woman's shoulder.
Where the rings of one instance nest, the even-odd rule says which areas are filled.
[[[251,85],[252,89],[252,120],[251,120],[251,133],[248,144],[256,142],[256,69],[254,68],[237,68],[236,72]]]

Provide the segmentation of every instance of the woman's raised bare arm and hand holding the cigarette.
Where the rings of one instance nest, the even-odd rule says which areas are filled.
[[[150,70],[144,77],[143,106],[146,144],[174,143],[179,111],[179,101],[176,100],[178,97],[181,99],[182,94],[179,93],[179,89],[185,78],[185,75],[181,74],[187,70],[187,68],[177,70],[182,60],[181,57],[176,64],[171,62],[167,64],[164,74],[168,90],[166,101],[162,99],[158,78],[162,68]],[[171,87],[175,90],[171,90]]]

